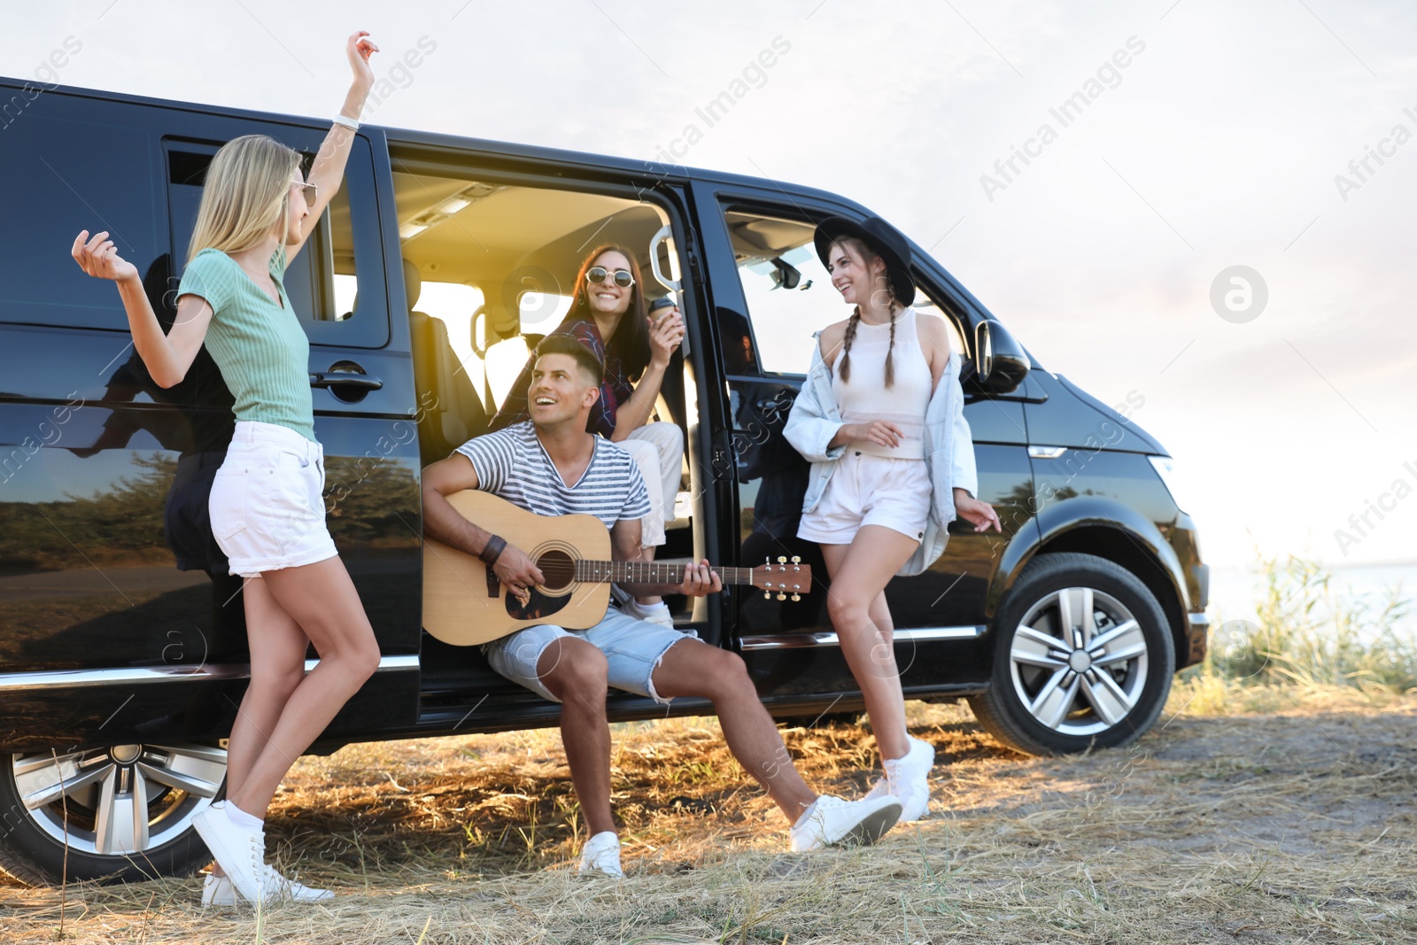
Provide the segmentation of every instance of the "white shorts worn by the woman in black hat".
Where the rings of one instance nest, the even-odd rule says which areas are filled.
[[[862,526],[886,526],[921,541],[930,521],[930,493],[924,459],[871,456],[847,448],[816,509],[802,514],[798,537],[850,544]]]

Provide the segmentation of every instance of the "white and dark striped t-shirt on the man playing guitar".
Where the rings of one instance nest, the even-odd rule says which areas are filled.
[[[645,477],[628,451],[597,436],[581,479],[567,486],[537,439],[531,421],[476,436],[458,448],[472,460],[478,489],[538,516],[595,516],[612,527],[649,514]]]

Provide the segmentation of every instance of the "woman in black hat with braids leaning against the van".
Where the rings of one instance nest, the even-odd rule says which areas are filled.
[[[978,492],[964,418],[959,357],[944,322],[910,307],[910,244],[886,221],[832,217],[816,251],[856,309],[816,334],[818,347],[784,435],[812,463],[798,537],[816,541],[832,577],[828,612],[871,720],[901,820],[930,808],[935,749],[905,731],[886,584],[920,574],[958,516],[1002,531]]]

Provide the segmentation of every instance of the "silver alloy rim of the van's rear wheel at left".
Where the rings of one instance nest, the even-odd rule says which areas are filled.
[[[227,752],[211,745],[113,745],[13,758],[24,810],[71,850],[128,856],[177,839],[211,803]]]

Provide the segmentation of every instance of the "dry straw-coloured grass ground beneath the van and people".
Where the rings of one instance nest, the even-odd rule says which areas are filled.
[[[258,919],[203,914],[197,880],[69,887],[65,939],[1417,941],[1417,700],[1291,687],[1216,717],[1206,698],[1180,687],[1131,749],[1051,759],[913,703],[938,813],[808,856],[714,720],[618,725],[625,881],[572,874],[584,829],[554,731],[353,745],[303,759],[269,822],[336,900]],[[864,730],[786,735],[819,786],[867,783]],[[0,887],[0,941],[55,941],[60,898]]]

